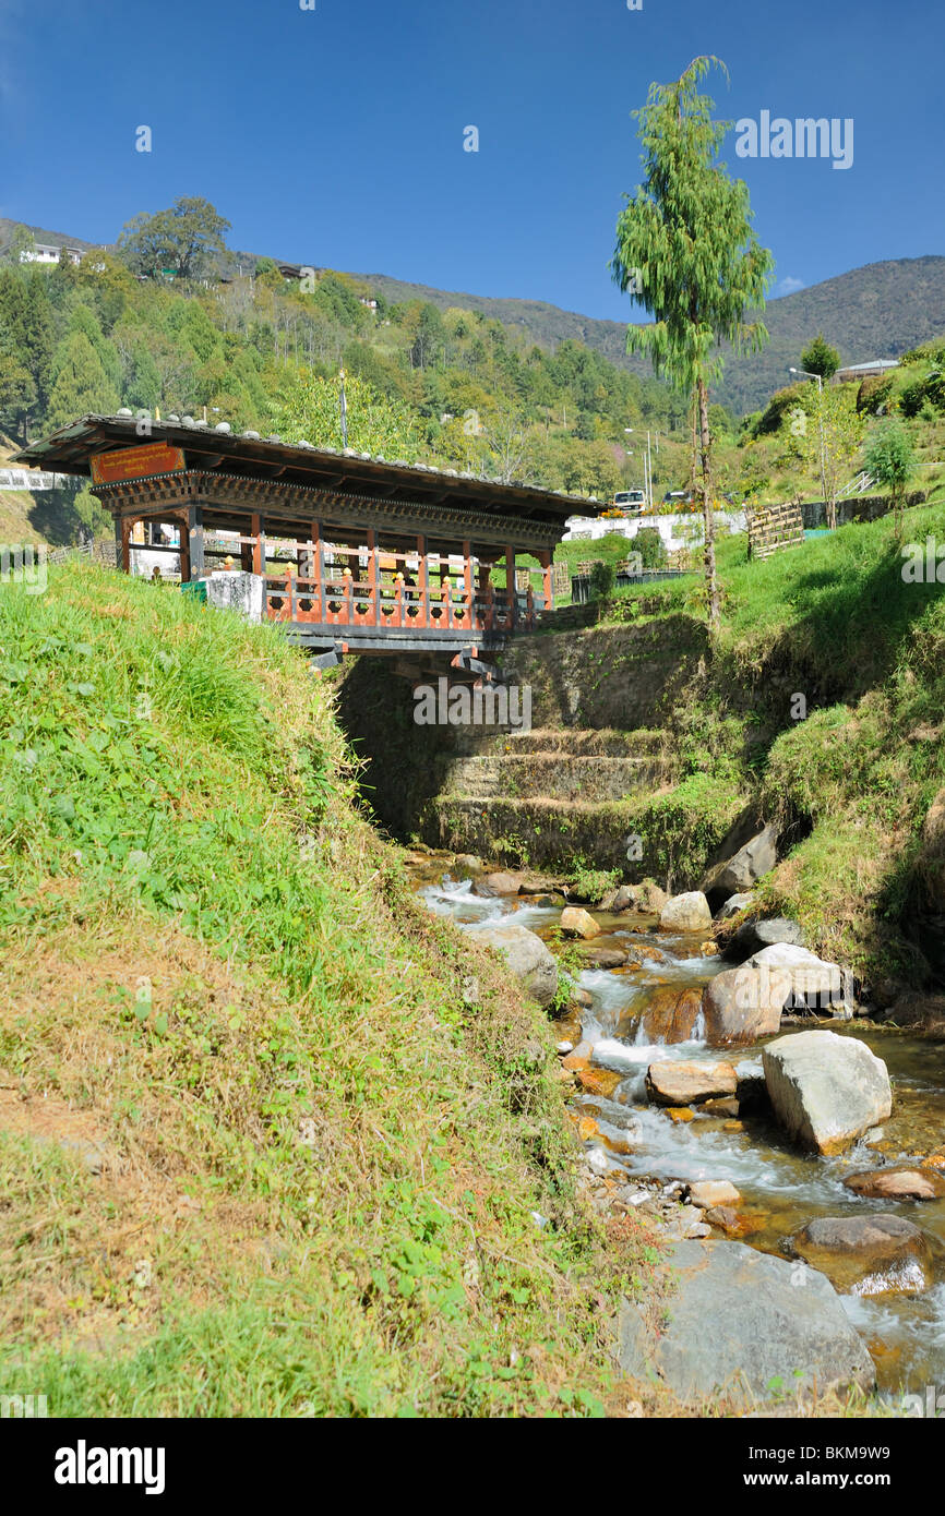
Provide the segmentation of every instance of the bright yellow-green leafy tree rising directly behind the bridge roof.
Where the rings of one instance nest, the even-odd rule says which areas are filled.
[[[379,394],[373,385],[349,374],[344,381],[347,397],[347,446],[359,453],[375,453],[393,461],[414,462],[420,446],[411,414],[396,400]],[[341,379],[322,377],[302,370],[275,405],[279,437],[288,443],[308,441],[316,447],[343,446],[341,440]]]

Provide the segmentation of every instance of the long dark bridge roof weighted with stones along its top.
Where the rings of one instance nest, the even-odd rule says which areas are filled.
[[[279,437],[258,432],[234,434],[229,428],[211,426],[191,417],[152,421],[149,435],[137,435],[130,411],[118,415],[82,415],[56,432],[30,443],[17,455],[17,462],[55,470],[56,473],[91,475],[94,455],[137,444],[167,443],[184,450],[188,468],[220,468],[244,479],[278,479],[281,485],[297,484],[331,491],[337,499],[352,496],[352,511],[358,502],[410,500],[420,506],[447,505],[451,511],[469,509],[496,515],[529,517],[563,529],[567,517],[598,515],[607,502],[593,497],[563,494],[529,484],[505,484],[455,468],[431,464],[407,464],[311,443],[284,443]],[[224,426],[226,423],[223,423]]]

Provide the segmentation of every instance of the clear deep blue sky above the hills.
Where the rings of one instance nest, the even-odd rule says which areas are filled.
[[[235,247],[631,318],[607,270],[629,112],[707,52],[725,120],[854,120],[848,170],[728,138],[781,290],[945,252],[930,0],[0,5],[0,214],[89,241],[200,194]]]

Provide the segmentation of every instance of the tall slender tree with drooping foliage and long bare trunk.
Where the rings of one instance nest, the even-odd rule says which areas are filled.
[[[764,305],[774,259],[751,227],[748,186],[728,177],[719,150],[728,123],[713,121],[714,102],[699,80],[719,61],[695,58],[673,83],[649,86],[636,111],[643,147],[643,183],[617,218],[614,280],[648,311],[649,326],[631,326],[626,350],[643,352],[654,370],[684,394],[696,393],[708,626],[719,629],[708,385],[722,373],[721,343],[757,350],[768,341],[748,311]],[[725,68],[724,64],[719,64]]]

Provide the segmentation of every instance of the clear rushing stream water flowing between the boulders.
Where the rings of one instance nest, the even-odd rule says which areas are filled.
[[[451,864],[455,875],[449,872]],[[546,935],[560,922],[561,904],[529,904],[528,896],[478,897],[472,891],[473,879],[461,875],[446,855],[408,855],[408,869],[429,910],[452,917],[460,926],[514,914],[516,923]],[[592,996],[592,1004],[581,1011],[579,1028],[573,1019],[561,1023],[561,1035],[569,1041],[590,1045],[592,1067],[613,1070],[613,1088],[578,1092],[572,1098],[575,1114],[593,1119],[581,1128],[584,1132],[593,1126],[582,1143],[592,1173],[614,1173],[623,1182],[661,1181],[664,1187],[673,1181],[728,1179],[742,1195],[739,1240],[786,1258],[792,1257],[787,1239],[815,1217],[862,1216],[866,1208],[893,1213],[921,1226],[931,1245],[924,1290],[843,1293],[842,1299],[872,1354],[881,1392],[924,1395],[927,1386],[945,1392],[945,1199],[863,1199],[843,1189],[843,1179],[857,1170],[883,1163],[915,1163],[943,1151],[945,1045],[860,1019],[848,1023],[805,1019],[807,1026],[830,1025],[840,1035],[868,1043],[884,1060],[892,1079],[892,1117],[878,1132],[866,1134],[834,1158],[793,1149],[769,1114],[731,1120],[696,1111],[687,1120],[672,1119],[664,1108],[646,1101],[643,1081],[651,1063],[724,1058],[740,1066],[757,1063],[761,1043],[734,1051],[710,1049],[698,1040],[698,1023],[690,1041],[651,1043],[642,1037],[640,1014],[657,987],[701,988],[731,964],[719,957],[701,957],[698,934],[658,932],[652,917],[589,910],[601,928],[593,946],[631,954],[629,967],[582,970],[576,982]],[[587,1046],[582,1051],[587,1052]],[[623,1139],[614,1143],[623,1151],[614,1151],[610,1143]],[[713,1228],[711,1236],[724,1233]]]

